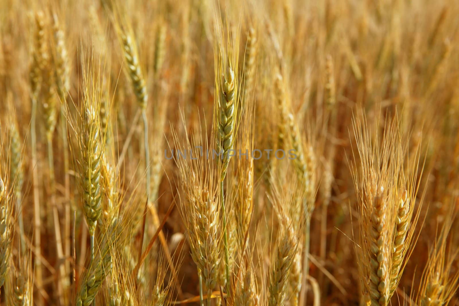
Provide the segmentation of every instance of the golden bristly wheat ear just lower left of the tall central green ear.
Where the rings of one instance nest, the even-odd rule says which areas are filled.
[[[173,135],[175,146],[179,147],[178,136],[175,133]],[[198,143],[193,140],[193,145]],[[186,144],[191,147],[188,139]],[[191,257],[198,268],[201,305],[205,287],[208,290],[207,304],[210,306],[212,290],[218,281],[222,246],[218,205],[220,194],[216,186],[219,171],[214,159],[198,157],[197,160],[176,160],[185,193],[185,197],[181,197],[180,215],[185,223]]]

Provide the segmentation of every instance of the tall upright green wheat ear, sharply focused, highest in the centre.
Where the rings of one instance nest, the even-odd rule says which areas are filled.
[[[228,68],[224,75],[222,83],[222,95],[220,98],[220,116],[218,122],[218,152],[223,152],[222,155],[222,170],[220,180],[223,181],[228,170],[230,157],[229,150],[234,145],[234,130],[235,130],[235,76],[231,67]]]

